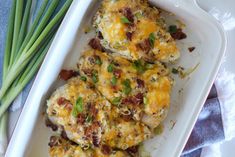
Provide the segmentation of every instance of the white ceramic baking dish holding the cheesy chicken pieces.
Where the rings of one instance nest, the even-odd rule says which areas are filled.
[[[180,155],[208,95],[225,52],[226,37],[220,24],[201,10],[194,0],[152,0],[153,4],[174,13],[186,24],[187,39],[178,42],[181,49],[179,65],[199,67],[190,77],[176,79],[171,109],[164,121],[161,135],[145,142],[152,156]],[[71,69],[87,48],[93,33],[84,35],[84,27],[91,22],[99,5],[97,0],[74,0],[35,79],[7,148],[7,157],[48,155],[49,136],[43,112],[46,100],[58,87],[58,73]],[[193,53],[188,47],[195,46]],[[182,90],[183,89],[183,90]],[[180,92],[179,92],[180,91]]]

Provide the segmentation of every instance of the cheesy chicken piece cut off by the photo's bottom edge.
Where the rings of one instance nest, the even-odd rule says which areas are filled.
[[[84,150],[76,143],[59,136],[51,136],[49,143],[50,157],[129,157],[129,154],[120,150],[103,150],[101,148]]]

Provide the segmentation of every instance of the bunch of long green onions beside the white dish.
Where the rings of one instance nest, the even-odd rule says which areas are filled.
[[[7,109],[40,68],[61,21],[73,0],[55,13],[60,0],[44,0],[32,24],[32,0],[13,0],[0,89],[0,156],[7,146]],[[55,16],[53,16],[55,14]]]

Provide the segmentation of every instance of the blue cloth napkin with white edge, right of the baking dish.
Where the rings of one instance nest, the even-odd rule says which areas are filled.
[[[220,144],[235,137],[235,75],[221,70],[181,157],[220,157]]]

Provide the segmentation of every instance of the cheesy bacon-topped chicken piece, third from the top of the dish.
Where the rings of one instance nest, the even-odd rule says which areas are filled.
[[[151,136],[146,125],[126,121],[119,114],[120,109],[112,106],[82,77],[72,78],[57,89],[47,106],[51,122],[64,129],[67,137],[84,149],[102,144],[127,149]]]

